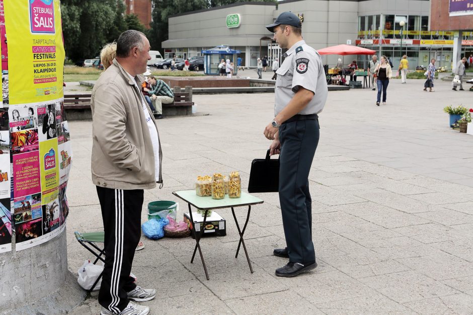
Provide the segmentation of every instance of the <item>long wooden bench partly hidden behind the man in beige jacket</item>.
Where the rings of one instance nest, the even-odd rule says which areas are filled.
[[[180,86],[173,88],[174,102],[163,103],[163,116],[189,116],[192,114],[192,86],[181,89]],[[69,121],[92,120],[91,93],[64,94],[64,111]]]

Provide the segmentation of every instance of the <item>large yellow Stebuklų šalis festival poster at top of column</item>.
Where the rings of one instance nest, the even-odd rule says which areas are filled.
[[[59,0],[5,1],[10,104],[63,96],[64,45]]]

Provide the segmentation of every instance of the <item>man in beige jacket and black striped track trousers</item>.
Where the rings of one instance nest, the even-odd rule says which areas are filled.
[[[156,291],[130,277],[141,235],[143,189],[162,183],[162,152],[156,122],[144,100],[140,75],[149,42],[129,30],[117,41],[117,57],[92,90],[92,180],[97,186],[105,232],[105,268],[99,292],[101,314],[146,315],[142,302]]]

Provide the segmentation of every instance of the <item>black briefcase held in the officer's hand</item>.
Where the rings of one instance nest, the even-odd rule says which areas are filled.
[[[279,191],[279,159],[270,159],[269,150],[265,159],[254,159],[251,162],[248,192]]]

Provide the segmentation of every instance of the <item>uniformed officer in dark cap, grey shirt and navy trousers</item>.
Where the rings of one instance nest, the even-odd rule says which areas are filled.
[[[281,48],[284,62],[276,71],[275,118],[264,130],[273,140],[271,155],[279,154],[279,202],[287,247],[274,255],[289,258],[276,269],[281,277],[317,267],[312,243],[312,208],[308,175],[319,143],[319,117],[327,100],[327,81],[319,53],[301,35],[301,22],[283,12],[267,25]]]

